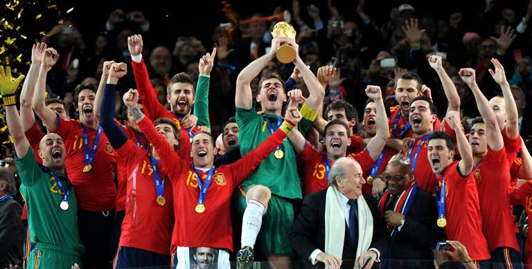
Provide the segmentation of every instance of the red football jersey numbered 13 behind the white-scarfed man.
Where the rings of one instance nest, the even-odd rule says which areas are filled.
[[[327,151],[316,151],[310,142],[305,142],[305,148],[298,154],[298,160],[303,163],[303,196],[313,194],[314,192],[327,189],[327,171],[325,168],[325,158]],[[361,151],[358,154],[351,154],[349,157],[355,159],[360,163],[362,171],[368,171],[373,166],[374,160],[369,155],[367,150]],[[329,160],[329,165],[332,167],[333,160]]]

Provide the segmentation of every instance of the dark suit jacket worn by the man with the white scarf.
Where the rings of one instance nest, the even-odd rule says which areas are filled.
[[[296,250],[302,260],[307,260],[310,254],[319,249],[325,251],[325,203],[326,203],[327,189],[320,192],[315,192],[305,197],[303,200],[303,207],[294,222],[292,232],[290,232],[289,240],[292,248]],[[364,199],[368,203],[371,215],[373,216],[373,239],[371,240],[370,248],[376,248],[380,251],[381,257],[388,248],[389,237],[386,230],[386,224],[378,216],[377,201],[372,196],[366,196]],[[365,225],[365,223],[358,223],[358,225]],[[349,240],[348,228],[346,223],[346,235],[344,236],[344,251],[342,260],[355,260],[357,254],[357,246],[353,245]],[[362,239],[359,239],[362,240]],[[309,263],[310,264],[310,263]],[[318,263],[319,264],[319,263]],[[321,264],[321,266],[323,266]],[[342,268],[353,268],[353,263],[342,263]]]

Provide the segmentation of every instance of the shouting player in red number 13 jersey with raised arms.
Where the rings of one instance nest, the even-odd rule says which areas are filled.
[[[288,94],[291,95],[292,93]],[[376,103],[375,110],[378,110],[375,119],[377,131],[364,150],[358,154],[350,155],[360,164],[363,172],[368,172],[373,163],[379,159],[389,136],[388,124],[384,119],[386,112],[384,111],[380,87],[368,86],[366,95]],[[292,96],[290,98],[294,102],[294,98]],[[323,144],[326,149],[321,152],[316,151],[298,131],[292,132],[288,138],[303,165],[303,196],[326,189],[330,167],[335,160],[346,156],[347,147],[351,143],[351,139],[348,138],[347,125],[342,120],[331,120],[326,125],[323,131]]]

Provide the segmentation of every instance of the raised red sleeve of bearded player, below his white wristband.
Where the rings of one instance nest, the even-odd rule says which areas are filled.
[[[141,62],[131,61],[133,66],[133,74],[135,77],[136,87],[139,90],[139,95],[142,104],[145,108],[144,113],[150,120],[157,120],[158,118],[166,116],[166,108],[159,103],[155,89],[153,89],[148,69],[144,63],[144,58]]]

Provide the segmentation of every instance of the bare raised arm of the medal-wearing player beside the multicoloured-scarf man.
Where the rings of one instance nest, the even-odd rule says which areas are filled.
[[[473,167],[475,167],[475,160],[473,159],[473,152],[469,145],[468,138],[465,138],[465,133],[463,133],[462,125],[460,123],[460,113],[458,111],[447,112],[447,115],[445,115],[445,121],[454,130],[454,133],[456,133],[456,147],[458,147],[458,152],[461,157],[461,160],[458,163],[460,172],[462,173],[462,176],[468,176],[473,170]]]

